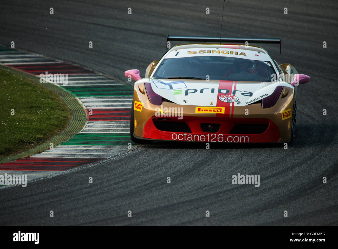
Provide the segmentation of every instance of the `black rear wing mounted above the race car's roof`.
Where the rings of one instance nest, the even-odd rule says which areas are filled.
[[[272,43],[279,44],[279,53],[282,51],[282,38],[233,38],[233,37],[203,37],[203,36],[170,36],[167,35],[167,44],[168,41],[187,41],[187,42],[230,42],[230,43]]]

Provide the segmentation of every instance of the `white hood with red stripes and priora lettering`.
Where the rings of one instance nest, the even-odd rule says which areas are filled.
[[[193,106],[222,106],[233,103],[246,106],[273,93],[276,86],[292,86],[285,82],[241,82],[179,79],[144,79],[153,91],[176,104]]]

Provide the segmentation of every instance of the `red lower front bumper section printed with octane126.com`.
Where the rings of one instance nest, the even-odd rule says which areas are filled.
[[[161,125],[161,130],[158,129],[159,122],[174,122],[175,126],[178,122],[186,123],[183,127],[189,127],[190,130],[180,131],[180,129],[163,129],[166,125]],[[163,124],[163,123],[161,123]],[[171,123],[170,123],[171,124]],[[216,132],[208,132],[201,127],[201,124],[207,124],[219,126],[216,128]],[[182,124],[183,125],[183,124]],[[255,130],[247,129],[249,127],[264,127],[264,131],[260,128],[260,133],[254,133]],[[182,127],[178,123],[177,127]],[[242,128],[241,128],[242,127]],[[244,133],[234,133],[243,130],[246,127]],[[237,128],[237,129],[236,129]],[[266,129],[265,129],[266,128]],[[168,131],[170,130],[170,131]],[[159,118],[151,117],[146,122],[143,128],[143,137],[141,139],[151,140],[171,140],[171,141],[195,141],[195,142],[235,142],[235,143],[267,143],[267,142],[281,142],[281,136],[278,127],[274,122],[269,119],[253,119],[253,118],[224,118],[224,117],[193,117],[185,116],[183,119],[178,117]]]

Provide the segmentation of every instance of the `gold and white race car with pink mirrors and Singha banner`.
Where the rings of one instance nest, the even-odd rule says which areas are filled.
[[[249,43],[281,39],[167,36],[169,48],[134,79],[130,137],[160,141],[275,143],[295,137],[297,86],[310,77]],[[169,43],[168,43],[169,42]],[[233,44],[236,43],[236,44]],[[241,44],[243,43],[243,44]]]

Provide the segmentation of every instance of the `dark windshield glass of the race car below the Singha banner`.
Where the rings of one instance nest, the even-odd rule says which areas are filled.
[[[270,61],[226,56],[193,56],[164,59],[153,78],[196,78],[223,81],[271,81]]]

